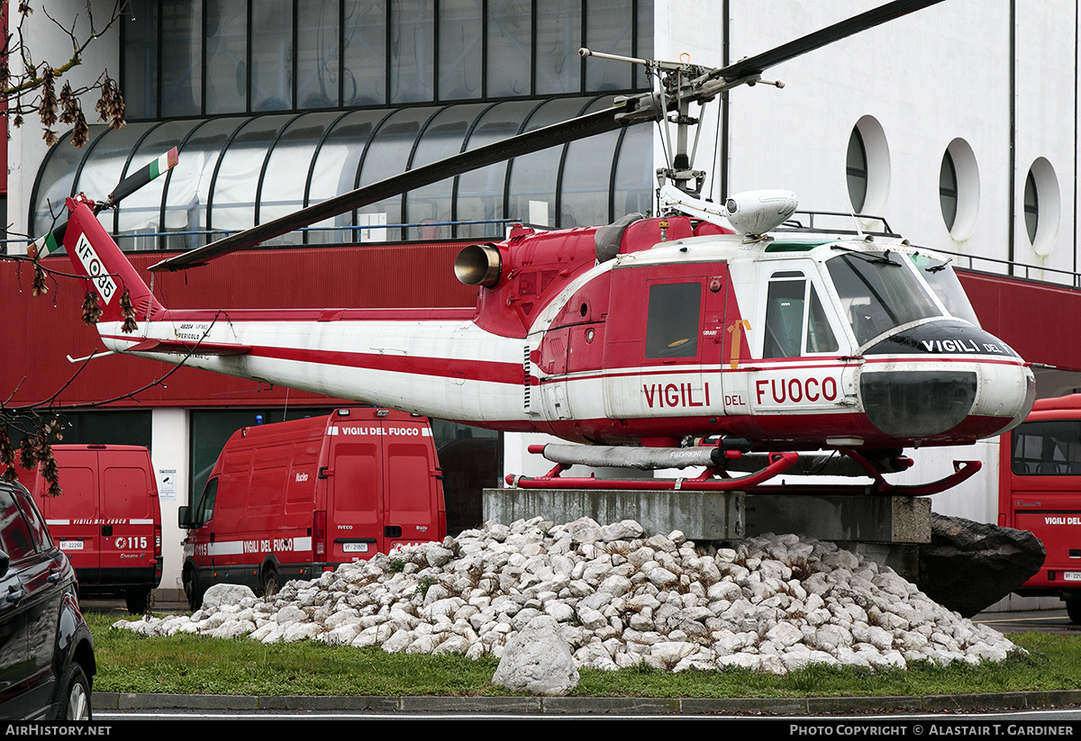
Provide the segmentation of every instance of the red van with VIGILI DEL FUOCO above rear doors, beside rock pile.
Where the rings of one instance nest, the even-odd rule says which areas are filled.
[[[272,594],[342,563],[446,536],[442,474],[425,417],[379,408],[245,427],[193,507],[179,509],[191,609],[212,584]]]

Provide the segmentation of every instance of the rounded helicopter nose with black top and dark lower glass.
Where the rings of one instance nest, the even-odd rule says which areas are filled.
[[[875,362],[885,361],[876,358],[885,353],[892,355],[889,362]],[[1024,361],[1002,340],[966,323],[903,331],[864,356],[865,414],[894,437],[973,441],[1000,434],[1020,423],[1036,399],[1036,380]]]

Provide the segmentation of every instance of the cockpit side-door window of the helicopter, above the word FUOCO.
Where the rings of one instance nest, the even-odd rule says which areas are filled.
[[[801,272],[776,273],[766,292],[762,356],[796,358],[838,348],[814,285]]]

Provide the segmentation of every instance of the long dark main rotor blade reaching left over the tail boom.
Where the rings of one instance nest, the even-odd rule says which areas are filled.
[[[618,117],[620,113],[627,113],[635,110],[639,99],[639,97],[630,97],[626,100],[614,104],[610,108],[605,108],[593,113],[587,113],[569,121],[553,123],[550,126],[536,129],[484,147],[478,147],[477,149],[469,149],[467,151],[453,154],[452,157],[438,160],[431,164],[415,167],[414,170],[408,170],[404,173],[388,177],[385,180],[379,180],[378,183],[373,183],[372,185],[351,190],[347,193],[335,196],[334,198],[316,203],[315,205],[310,205],[307,208],[297,211],[296,213],[282,216],[273,219],[272,221],[267,221],[266,224],[261,224],[236,234],[230,234],[229,237],[212,242],[206,246],[198,247],[190,252],[176,255],[175,257],[161,260],[160,262],[151,265],[148,270],[160,272],[164,270],[183,270],[186,268],[195,268],[206,265],[209,260],[214,259],[215,257],[221,257],[223,255],[237,252],[238,250],[253,247],[262,242],[266,242],[269,239],[273,239],[275,237],[281,237],[282,234],[288,234],[289,232],[301,227],[306,227],[309,224],[315,224],[325,218],[337,216],[338,214],[352,211],[353,208],[360,208],[372,203],[378,203],[386,198],[400,196],[401,193],[410,190],[414,190],[432,183],[439,183],[448,177],[461,175],[471,170],[484,167],[496,162],[503,162],[515,157],[530,154],[556,145],[583,139],[588,136],[593,136],[595,134],[603,134],[618,129],[620,125],[638,123],[639,119],[622,120]],[[645,121],[651,119],[643,117],[640,120]]]

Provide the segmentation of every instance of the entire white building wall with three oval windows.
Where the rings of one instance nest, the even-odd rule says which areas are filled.
[[[729,58],[752,56],[879,4],[730,0]],[[720,66],[724,6],[657,2],[657,58],[678,59],[686,53],[693,63]],[[951,0],[766,70],[765,80],[779,79],[786,86],[730,92],[728,159],[711,162],[716,129],[710,123],[695,165],[718,180],[719,169],[726,166],[730,192],[788,188],[801,208],[844,212],[851,208],[849,138],[860,119],[871,117],[884,147],[869,152],[872,192],[865,212],[884,216],[913,243],[999,260],[1010,256],[1014,213],[1015,259],[1073,270],[1077,8],[1066,0],[1017,3],[1016,62],[1010,57],[1010,8],[1005,2]],[[955,157],[960,198],[972,199],[973,207],[969,217],[959,214],[950,233],[942,216],[938,174],[955,139],[973,156],[971,164]],[[871,143],[868,147],[875,149]],[[1047,232],[1033,248],[1025,231],[1023,198],[1029,167],[1039,158],[1050,164],[1056,187],[1041,199],[1049,210]],[[659,146],[655,159],[662,166]],[[715,200],[721,196],[716,193]],[[964,259],[958,264],[970,265]],[[1004,271],[978,259],[971,265]]]

